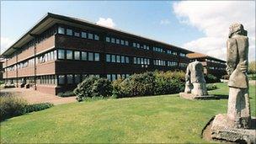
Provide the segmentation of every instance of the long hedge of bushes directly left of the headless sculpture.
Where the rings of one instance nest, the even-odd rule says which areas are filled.
[[[184,72],[145,72],[113,83],[115,98],[171,94],[184,91]]]

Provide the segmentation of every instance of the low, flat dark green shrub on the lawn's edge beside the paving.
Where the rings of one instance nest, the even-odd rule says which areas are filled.
[[[48,108],[51,108],[52,106],[53,104],[51,103],[29,104],[29,105],[26,105],[24,109],[26,113],[30,113],[34,111],[48,109]]]

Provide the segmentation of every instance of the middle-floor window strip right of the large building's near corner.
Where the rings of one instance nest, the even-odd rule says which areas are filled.
[[[99,53],[88,51],[58,50],[58,59],[99,61]]]

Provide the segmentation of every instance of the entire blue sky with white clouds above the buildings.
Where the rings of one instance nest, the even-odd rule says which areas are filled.
[[[46,13],[86,19],[226,60],[229,26],[248,30],[255,61],[254,1],[1,1],[1,53]]]

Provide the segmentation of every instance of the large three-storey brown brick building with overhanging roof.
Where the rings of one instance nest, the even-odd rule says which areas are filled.
[[[76,88],[89,75],[115,80],[133,73],[185,70],[190,52],[82,19],[47,13],[1,57],[6,83],[56,94]]]

